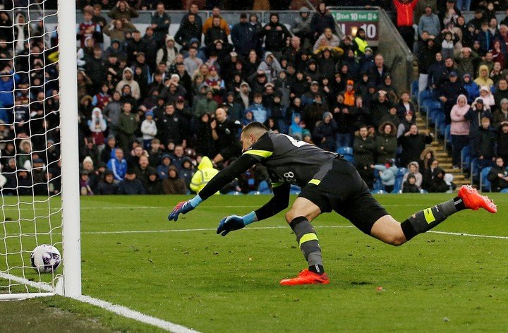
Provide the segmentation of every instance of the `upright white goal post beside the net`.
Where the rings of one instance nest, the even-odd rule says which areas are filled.
[[[78,155],[78,71],[75,1],[58,1],[60,120],[62,158],[63,293],[81,295],[81,242]]]

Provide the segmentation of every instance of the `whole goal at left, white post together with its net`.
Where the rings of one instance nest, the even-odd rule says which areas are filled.
[[[0,300],[81,293],[75,1],[56,9],[0,10]]]

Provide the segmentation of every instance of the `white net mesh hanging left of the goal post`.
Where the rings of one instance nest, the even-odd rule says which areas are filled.
[[[0,293],[30,293],[53,287],[61,272],[40,274],[30,263],[36,246],[62,248],[56,11],[46,0],[6,2],[0,11]]]

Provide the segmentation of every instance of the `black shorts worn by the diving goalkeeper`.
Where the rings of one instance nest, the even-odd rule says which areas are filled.
[[[312,201],[321,212],[334,210],[365,234],[370,235],[377,219],[388,214],[370,194],[356,168],[345,159],[334,159],[332,169],[316,183],[308,183],[298,196]]]

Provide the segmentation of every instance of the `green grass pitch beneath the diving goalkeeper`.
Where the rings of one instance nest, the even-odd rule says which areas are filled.
[[[435,230],[508,236],[508,196],[494,197],[497,214],[460,212]],[[508,331],[508,239],[428,233],[394,248],[337,214],[323,214],[314,225],[330,284],[283,287],[280,279],[306,267],[283,214],[226,237],[212,230],[222,217],[250,212],[269,197],[214,196],[179,222],[167,222],[169,207],[183,198],[83,198],[83,293],[201,332]],[[377,198],[403,221],[450,195]],[[30,214],[23,211],[27,219]],[[41,219],[41,229],[49,228],[46,222]],[[17,223],[5,225],[8,234],[19,231]],[[275,228],[257,229],[267,226]],[[23,231],[30,228],[33,223]],[[0,227],[0,238],[3,232]],[[10,241],[19,246],[18,239]],[[30,252],[31,246],[23,239],[23,248]],[[20,262],[19,257],[9,259]],[[33,271],[27,277],[38,279]],[[73,313],[97,318],[109,329],[150,330],[90,305],[52,299],[39,302],[63,310],[73,304]]]

